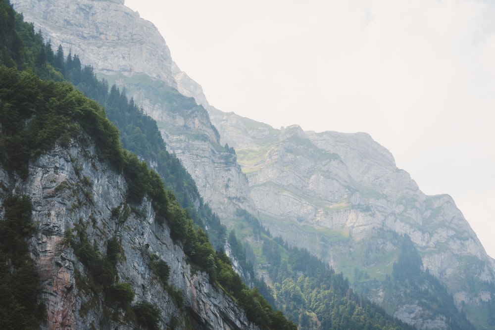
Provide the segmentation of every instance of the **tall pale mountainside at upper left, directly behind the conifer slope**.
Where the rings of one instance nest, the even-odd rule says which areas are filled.
[[[45,40],[78,54],[110,85],[126,88],[127,95],[157,121],[168,150],[181,159],[201,196],[219,216],[232,217],[238,209],[255,214],[247,180],[235,155],[219,144],[208,113],[177,93],[178,85],[188,86],[189,77],[172,62],[158,30],[123,2],[14,0],[12,4],[43,31]]]

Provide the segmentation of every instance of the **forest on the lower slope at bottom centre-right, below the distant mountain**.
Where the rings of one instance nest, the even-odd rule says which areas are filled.
[[[263,250],[273,261],[268,272],[276,305],[302,329],[413,329],[354,293],[342,273],[307,250],[290,247],[281,237],[264,237]],[[282,253],[287,261],[280,261]]]

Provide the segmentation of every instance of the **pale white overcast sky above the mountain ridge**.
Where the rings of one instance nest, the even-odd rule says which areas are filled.
[[[275,128],[367,132],[450,194],[495,256],[495,4],[126,0],[209,103]]]

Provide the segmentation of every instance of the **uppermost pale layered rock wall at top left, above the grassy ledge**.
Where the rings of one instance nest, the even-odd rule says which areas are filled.
[[[97,72],[144,73],[176,86],[170,50],[156,27],[124,0],[11,1],[26,22],[42,28],[56,51],[61,45]],[[109,25],[111,24],[111,28]]]

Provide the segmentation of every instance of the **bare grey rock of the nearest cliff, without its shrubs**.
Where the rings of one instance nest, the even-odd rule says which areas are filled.
[[[150,202],[145,199],[124,222],[112,217],[112,210],[125,205],[127,184],[122,175],[97,159],[93,147],[73,141],[69,148],[57,146],[32,162],[25,181],[0,169],[0,182],[7,188],[2,190],[0,202],[8,194],[5,191],[31,198],[32,221],[38,229],[30,239],[30,251],[40,273],[41,299],[48,314],[42,329],[137,327],[86,286],[87,270],[65,238],[66,231],[80,230],[76,223],[103,254],[109,238],[119,240],[124,256],[117,263],[117,277],[132,286],[134,303],[147,301],[159,308],[162,329],[173,319],[177,329],[258,329],[232,299],[209,284],[205,273],[191,271],[167,225],[155,222]],[[183,292],[184,306],[177,306],[163,290],[144,251],[169,265],[169,284]]]

